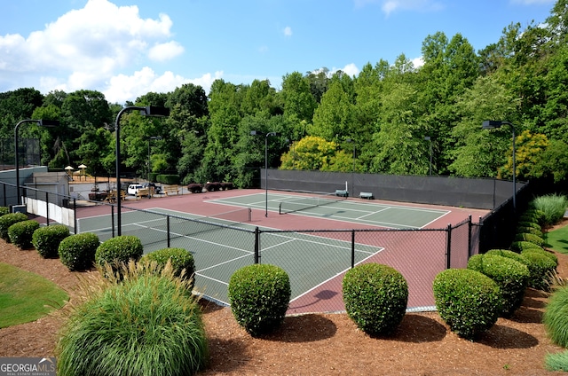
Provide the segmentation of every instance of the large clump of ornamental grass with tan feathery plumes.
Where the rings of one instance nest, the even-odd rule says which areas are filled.
[[[59,332],[58,375],[191,375],[205,368],[207,334],[187,281],[168,267],[145,270],[130,262],[121,283],[95,275],[83,287],[83,302],[69,309]]]

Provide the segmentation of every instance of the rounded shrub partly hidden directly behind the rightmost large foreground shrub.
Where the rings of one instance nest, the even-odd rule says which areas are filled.
[[[503,298],[501,316],[513,316],[523,303],[525,289],[531,277],[526,264],[515,261],[512,257],[487,253],[471,256],[468,269],[477,270],[497,283]]]

